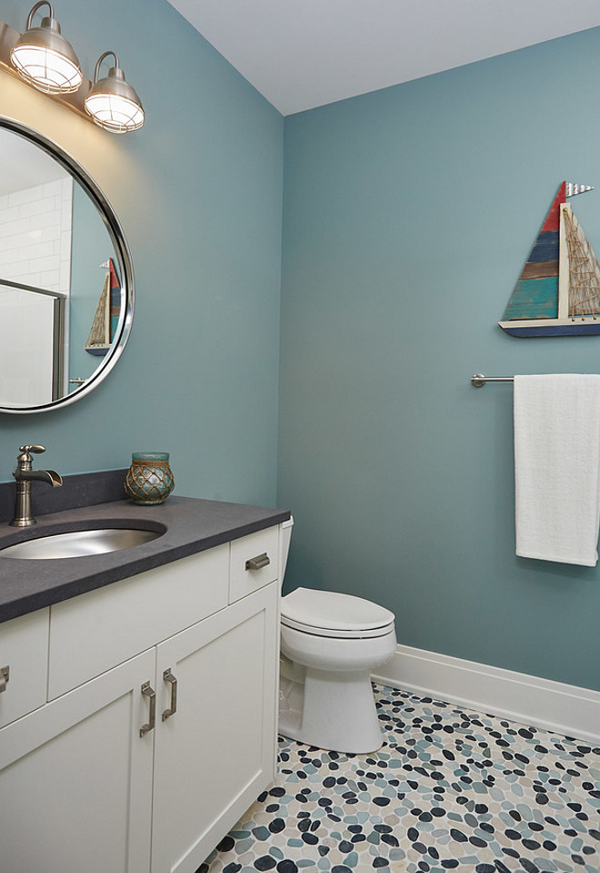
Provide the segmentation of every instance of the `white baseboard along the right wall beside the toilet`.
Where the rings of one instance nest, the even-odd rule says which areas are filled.
[[[375,682],[600,744],[600,692],[398,645]]]

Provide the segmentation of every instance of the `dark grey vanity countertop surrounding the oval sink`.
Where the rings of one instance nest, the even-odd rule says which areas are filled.
[[[112,472],[114,476],[115,473]],[[118,473],[120,476],[121,472]],[[81,480],[84,477],[75,478]],[[47,489],[47,492],[60,491],[62,489]],[[34,527],[19,529],[0,520],[0,622],[187,555],[204,552],[215,545],[284,522],[289,517],[289,512],[243,503],[171,495],[162,505],[143,506],[108,495],[108,502],[77,505],[60,512],[38,515]],[[156,539],[120,552],[80,558],[23,560],[3,557],[1,551],[6,545],[52,533],[97,527],[161,530],[163,525],[166,531]]]

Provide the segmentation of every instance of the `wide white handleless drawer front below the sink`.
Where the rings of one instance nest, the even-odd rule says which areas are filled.
[[[229,544],[51,606],[48,699],[227,604]]]

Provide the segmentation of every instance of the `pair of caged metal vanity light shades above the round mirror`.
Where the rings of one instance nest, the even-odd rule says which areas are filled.
[[[49,17],[42,18],[39,27],[32,26],[35,12],[48,6]],[[100,65],[107,56],[113,56],[115,66],[108,75],[100,76]],[[15,69],[38,90],[46,94],[69,94],[77,91],[83,74],[70,43],[61,34],[52,5],[40,0],[27,17],[25,34],[19,36],[10,53]],[[95,65],[94,82],[85,96],[85,112],[95,124],[113,133],[126,133],[144,124],[144,109],[132,86],[125,82],[123,70],[115,52],[105,52]]]

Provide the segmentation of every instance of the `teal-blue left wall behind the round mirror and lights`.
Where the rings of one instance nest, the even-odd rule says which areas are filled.
[[[1,17],[22,31],[30,7],[6,0]],[[4,72],[0,115],[103,189],[132,253],[135,320],[89,397],[0,415],[0,481],[24,442],[62,473],[165,450],[179,493],[273,504],[284,119],[165,0],[61,0],[55,14],[86,76],[105,50],[120,56],[145,127],[107,134]]]

